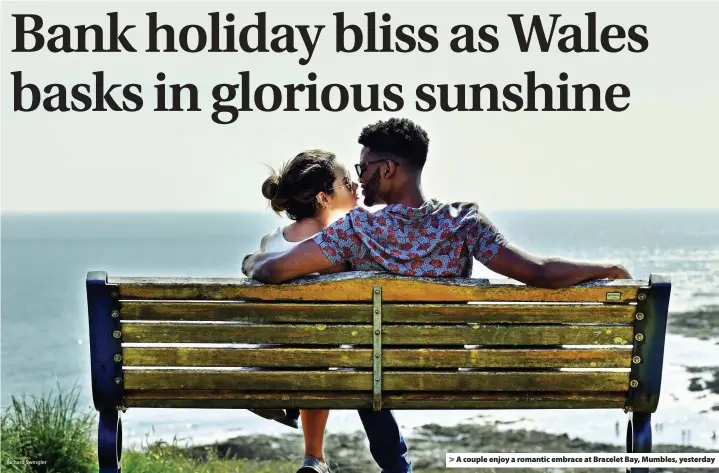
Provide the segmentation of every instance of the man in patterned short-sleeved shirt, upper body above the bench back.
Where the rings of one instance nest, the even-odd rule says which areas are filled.
[[[281,283],[329,270],[387,271],[407,276],[470,277],[473,260],[491,271],[540,288],[594,279],[631,279],[619,264],[540,258],[509,243],[475,203],[441,203],[422,193],[429,138],[407,119],[366,126],[355,165],[367,206],[283,253],[245,257],[243,273]]]

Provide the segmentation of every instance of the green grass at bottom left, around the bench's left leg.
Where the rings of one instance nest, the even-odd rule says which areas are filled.
[[[79,392],[58,387],[49,394],[12,396],[0,419],[0,470],[8,473],[97,473],[97,412],[78,406]],[[287,461],[191,458],[175,440],[124,448],[123,472],[295,473]]]

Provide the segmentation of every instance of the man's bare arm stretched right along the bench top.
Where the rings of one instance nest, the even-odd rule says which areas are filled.
[[[620,264],[541,258],[511,243],[500,248],[486,266],[528,286],[546,289],[560,289],[596,279],[632,279]]]

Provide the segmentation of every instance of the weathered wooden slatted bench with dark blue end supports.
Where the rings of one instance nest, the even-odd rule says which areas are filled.
[[[550,290],[386,273],[265,285],[91,272],[100,471],[120,471],[119,411],[131,408],[624,409],[627,451],[651,452],[670,290],[657,275]],[[178,346],[190,343],[290,346]]]

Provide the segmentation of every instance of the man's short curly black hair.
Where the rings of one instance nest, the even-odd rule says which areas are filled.
[[[417,169],[427,161],[429,136],[407,118],[390,118],[367,125],[357,141],[374,153],[394,155]]]

